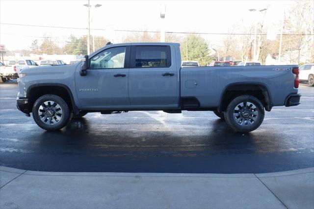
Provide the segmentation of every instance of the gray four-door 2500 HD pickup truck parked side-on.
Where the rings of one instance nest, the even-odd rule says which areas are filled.
[[[214,111],[239,132],[264,110],[300,104],[297,65],[184,67],[176,43],[107,45],[74,65],[23,69],[17,107],[45,130],[72,117],[132,110]]]

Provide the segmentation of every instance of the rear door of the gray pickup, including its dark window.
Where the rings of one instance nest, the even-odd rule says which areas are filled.
[[[131,47],[129,98],[131,105],[177,107],[178,71],[170,46]]]

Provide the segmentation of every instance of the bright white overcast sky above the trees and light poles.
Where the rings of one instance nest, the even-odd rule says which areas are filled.
[[[0,0],[0,23],[87,27],[87,0]],[[160,30],[159,17],[161,4],[166,5],[164,26],[166,31],[226,33],[239,32],[238,25],[252,25],[261,21],[259,12],[248,9],[268,8],[264,26],[275,28],[279,32],[284,10],[291,7],[292,0],[209,0],[209,1],[122,1],[90,0],[91,5],[102,4],[91,10],[93,22],[91,28],[106,30],[91,31],[95,35],[105,36],[115,43],[128,35],[124,30]],[[242,22],[243,21],[243,22]],[[33,39],[42,40],[50,36],[64,45],[70,34],[86,35],[86,29],[62,29],[31,26],[0,25],[0,44],[9,50],[26,49]],[[214,44],[221,41],[221,35],[204,35]]]

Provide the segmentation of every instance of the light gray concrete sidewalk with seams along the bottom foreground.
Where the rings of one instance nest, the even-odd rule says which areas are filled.
[[[314,168],[267,174],[62,173],[0,166],[1,209],[314,209]]]

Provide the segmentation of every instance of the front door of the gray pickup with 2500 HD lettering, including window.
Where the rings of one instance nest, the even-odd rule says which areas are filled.
[[[128,94],[130,46],[111,47],[90,57],[86,76],[76,70],[75,85],[83,108],[130,105]]]

